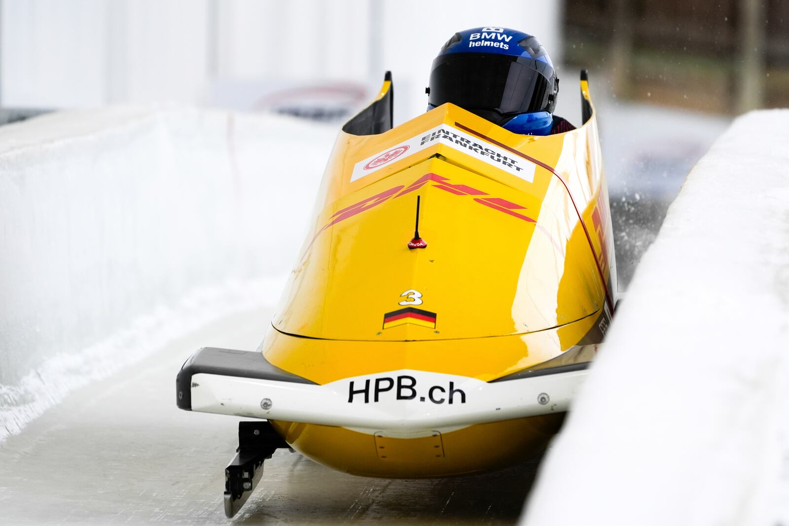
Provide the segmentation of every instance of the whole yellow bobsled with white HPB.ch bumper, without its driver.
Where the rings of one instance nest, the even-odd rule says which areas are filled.
[[[392,127],[387,73],[343,126],[255,352],[204,348],[178,407],[239,427],[225,509],[291,448],[361,476],[503,468],[558,430],[615,305],[608,191],[583,124],[518,135],[451,103]]]

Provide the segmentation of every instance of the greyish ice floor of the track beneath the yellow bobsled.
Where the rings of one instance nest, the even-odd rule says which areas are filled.
[[[181,411],[175,375],[208,345],[255,349],[271,310],[234,315],[75,390],[0,448],[2,524],[221,524],[518,520],[537,461],[454,479],[368,479],[279,450],[244,509],[227,520],[232,416]]]

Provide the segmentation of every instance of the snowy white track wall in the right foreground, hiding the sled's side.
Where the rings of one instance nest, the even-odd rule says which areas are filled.
[[[746,114],[691,170],[524,524],[789,524],[787,144]]]

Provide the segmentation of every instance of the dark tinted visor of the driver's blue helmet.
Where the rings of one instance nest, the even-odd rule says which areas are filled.
[[[433,62],[428,103],[453,103],[472,112],[493,110],[503,116],[551,111],[553,87],[538,71],[540,67],[550,68],[508,55],[446,54]]]

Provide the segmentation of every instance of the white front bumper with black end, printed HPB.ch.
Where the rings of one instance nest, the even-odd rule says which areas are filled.
[[[259,352],[206,347],[181,367],[176,391],[185,410],[407,433],[567,411],[588,365],[535,367],[492,382],[402,369],[317,385]]]

